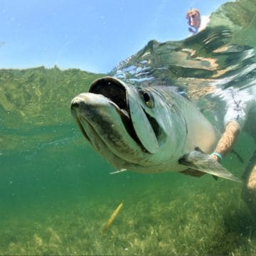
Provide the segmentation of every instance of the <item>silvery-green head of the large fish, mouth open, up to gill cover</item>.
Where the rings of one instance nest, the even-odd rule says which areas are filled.
[[[71,102],[85,138],[118,169],[159,171],[182,156],[187,126],[175,95],[105,77]],[[160,167],[159,167],[160,166]]]

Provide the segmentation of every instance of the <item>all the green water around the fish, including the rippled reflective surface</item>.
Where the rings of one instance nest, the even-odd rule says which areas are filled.
[[[178,87],[223,132],[230,87],[255,93],[255,11],[254,1],[225,4],[205,31],[150,41],[110,75]],[[242,183],[110,175],[116,170],[70,114],[70,100],[102,76],[57,67],[0,70],[0,255],[255,255],[256,225]],[[244,163],[233,153],[223,161],[239,177],[255,150],[253,118],[235,147]]]

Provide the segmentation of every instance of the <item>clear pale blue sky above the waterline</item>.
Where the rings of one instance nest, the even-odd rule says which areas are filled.
[[[189,36],[186,11],[227,0],[1,0],[0,68],[106,73],[151,39]]]

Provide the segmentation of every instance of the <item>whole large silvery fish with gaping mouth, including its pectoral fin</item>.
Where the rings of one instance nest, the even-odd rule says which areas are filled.
[[[203,154],[213,150],[213,126],[196,106],[169,86],[96,80],[71,102],[85,138],[117,169],[144,173],[194,169],[238,181]]]

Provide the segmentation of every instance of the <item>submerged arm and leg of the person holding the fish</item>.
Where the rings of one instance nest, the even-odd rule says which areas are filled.
[[[238,134],[244,129],[255,139],[256,122],[256,89],[234,90],[230,89],[226,97],[227,112],[224,117],[225,132],[218,141],[211,156],[220,162],[235,145]],[[244,186],[242,198],[249,206],[253,215],[256,216],[256,150],[252,154],[250,164],[247,166],[242,176]]]

